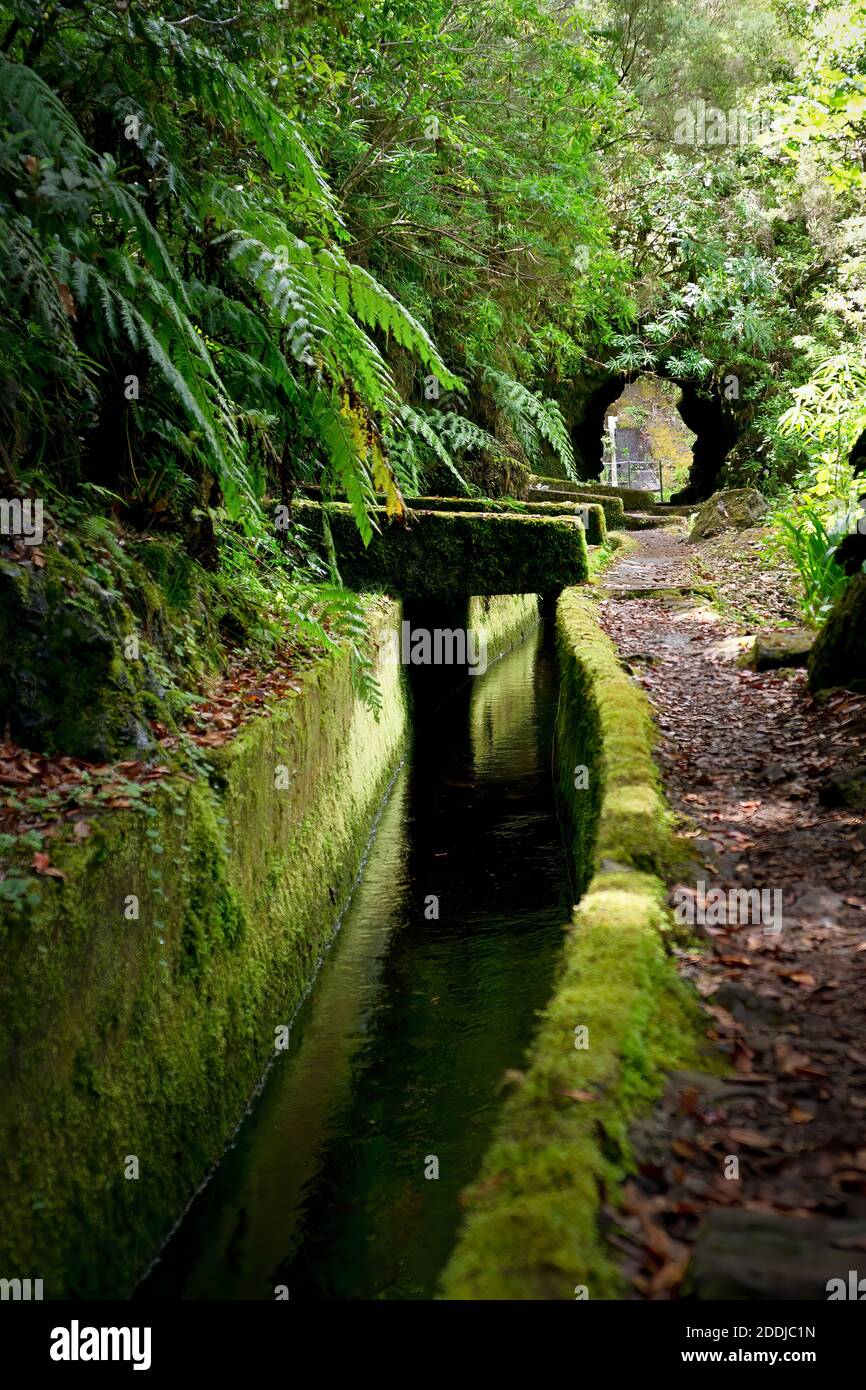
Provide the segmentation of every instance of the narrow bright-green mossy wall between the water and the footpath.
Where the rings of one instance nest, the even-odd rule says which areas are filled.
[[[630,1169],[631,1120],[669,1069],[698,1061],[703,1038],[698,1006],[664,949],[671,837],[649,708],[592,599],[575,589],[560,598],[557,644],[557,773],[574,887],[587,891],[525,1072],[466,1194],[442,1279],[443,1297],[455,1300],[623,1293],[599,1230],[601,1204],[616,1200]],[[575,787],[582,766],[587,788]]]

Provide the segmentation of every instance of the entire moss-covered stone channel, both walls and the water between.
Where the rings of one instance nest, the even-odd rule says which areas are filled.
[[[146,813],[57,841],[0,923],[7,1277],[620,1294],[602,1197],[702,1036],[649,708],[573,587],[544,628],[530,595],[464,603],[489,669],[421,669],[410,714],[386,653],[423,602],[364,600],[378,719],[328,656]]]

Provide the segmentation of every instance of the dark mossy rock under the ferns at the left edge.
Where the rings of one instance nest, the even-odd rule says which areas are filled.
[[[24,746],[140,756],[150,721],[177,733],[181,691],[218,667],[213,578],[177,545],[138,550],[165,589],[108,530],[89,546],[71,535],[46,543],[39,564],[0,563],[0,724]]]

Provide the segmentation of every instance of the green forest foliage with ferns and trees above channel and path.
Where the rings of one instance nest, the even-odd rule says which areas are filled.
[[[863,4],[15,0],[0,107],[0,464],[96,578],[192,562],[235,635],[363,667],[300,484],[366,537],[377,495],[520,496],[575,475],[588,379],[659,373],[731,400],[717,481],[838,598]]]

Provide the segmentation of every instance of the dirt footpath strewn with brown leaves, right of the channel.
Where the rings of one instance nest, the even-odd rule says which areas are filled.
[[[741,908],[733,924],[706,912],[696,949],[683,937],[678,967],[737,1080],[671,1080],[635,1137],[612,1240],[637,1295],[826,1298],[828,1269],[866,1273],[866,828],[819,791],[866,762],[866,702],[819,709],[803,671],[740,669],[742,630],[706,600],[641,596],[688,589],[698,555],[705,575],[706,552],[642,534],[606,575],[602,621],[655,708],[666,792],[694,837],[680,910],[699,917],[713,888],[767,890],[781,930]]]

